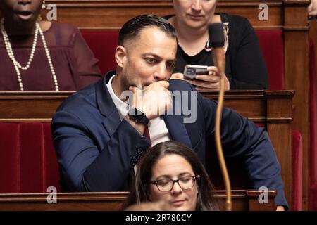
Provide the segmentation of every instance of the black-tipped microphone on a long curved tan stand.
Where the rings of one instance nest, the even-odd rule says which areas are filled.
[[[216,110],[216,123],[215,123],[215,139],[216,150],[219,160],[221,173],[223,174],[223,181],[225,183],[225,191],[227,193],[226,210],[232,210],[231,203],[231,186],[228,175],[228,169],[225,165],[225,158],[223,156],[223,147],[220,138],[220,124],[221,124],[221,111],[223,108],[223,96],[225,94],[225,53],[223,46],[225,45],[225,35],[223,34],[222,23],[211,23],[209,25],[209,43],[211,43],[213,63],[218,68],[220,75],[220,91],[218,97],[218,105]]]

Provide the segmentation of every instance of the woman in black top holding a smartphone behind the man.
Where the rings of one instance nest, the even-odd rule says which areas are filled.
[[[215,14],[216,0],[173,0],[175,15],[165,18],[178,35],[178,54],[173,78],[184,79],[186,65],[208,65],[209,75],[188,81],[197,90],[220,88],[213,66],[209,23],[223,23],[225,46],[225,89],[268,89],[268,72],[259,40],[247,18]]]

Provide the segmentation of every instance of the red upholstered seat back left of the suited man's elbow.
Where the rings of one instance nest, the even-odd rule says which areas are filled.
[[[50,122],[0,122],[0,143],[0,193],[60,191]]]

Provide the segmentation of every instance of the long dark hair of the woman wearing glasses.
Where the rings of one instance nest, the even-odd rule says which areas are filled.
[[[142,162],[137,169],[135,183],[132,186],[132,190],[130,191],[128,198],[125,200],[125,203],[123,203],[123,210],[130,205],[149,201],[149,181],[151,180],[152,169],[156,162],[158,162],[161,158],[171,154],[180,155],[185,158],[185,160],[187,160],[187,162],[189,162],[192,166],[194,174],[200,176],[200,179],[197,179],[199,193],[197,195],[196,210],[218,210],[218,207],[213,199],[213,186],[204,166],[192,150],[176,141],[162,142],[147,150],[147,153],[144,155],[144,158],[142,158]]]

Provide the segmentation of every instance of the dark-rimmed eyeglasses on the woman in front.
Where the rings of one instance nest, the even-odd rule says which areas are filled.
[[[167,192],[173,189],[174,183],[178,183],[182,190],[190,189],[194,186],[195,181],[200,179],[200,176],[183,176],[178,180],[161,179],[157,181],[150,181],[150,184],[156,184],[157,188],[161,192]]]

